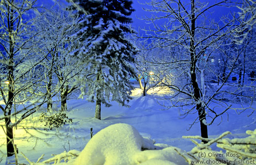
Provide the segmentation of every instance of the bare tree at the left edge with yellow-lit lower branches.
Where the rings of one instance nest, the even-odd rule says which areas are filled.
[[[45,11],[44,9],[38,9],[36,0],[0,1],[2,20],[0,22],[0,100],[4,102],[0,105],[3,111],[0,120],[5,121],[7,156],[17,154],[13,128],[47,102],[47,95],[41,90],[42,84],[49,83],[44,81],[45,77],[53,77],[57,69],[59,73],[63,71],[61,84],[57,85],[56,82],[58,88],[49,91],[53,97],[77,74],[77,72],[74,74],[76,70],[74,68],[78,65],[73,64],[73,67],[69,68],[63,65],[71,64],[71,62],[68,64],[61,62],[68,51],[67,46],[70,45],[70,40],[66,40],[66,33],[70,29],[74,30],[74,27],[70,22],[69,25],[64,24],[67,23],[63,22],[67,19],[64,15],[58,19],[63,12],[53,13],[51,11],[50,14],[41,14],[40,12]],[[42,18],[50,15],[55,17],[56,20],[51,20],[56,21],[55,24],[51,22],[51,26],[36,28],[41,23],[38,20],[46,21],[47,19],[42,20]],[[49,19],[48,21],[50,22]],[[47,37],[48,40],[46,40]],[[49,38],[52,39],[51,42]],[[46,62],[51,63],[48,67],[50,71],[47,70],[47,72],[45,72],[46,65],[44,65]],[[69,70],[66,70],[68,68]],[[16,117],[17,114],[19,117]]]

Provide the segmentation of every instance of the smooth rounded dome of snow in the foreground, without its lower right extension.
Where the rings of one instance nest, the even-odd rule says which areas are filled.
[[[132,165],[143,138],[128,124],[114,124],[100,130],[85,146],[75,165]]]

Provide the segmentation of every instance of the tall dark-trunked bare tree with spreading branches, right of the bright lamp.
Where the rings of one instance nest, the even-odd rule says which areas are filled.
[[[218,7],[228,9],[237,5],[234,0],[217,0],[216,2],[203,3],[199,0],[183,2],[181,0],[151,0],[146,3],[150,7],[149,12],[158,12],[151,18],[144,20],[154,25],[154,28],[143,29],[146,32],[144,38],[151,44],[144,49],[156,47],[173,50],[164,60],[158,63],[169,64],[174,69],[174,77],[171,83],[162,82],[175,91],[171,97],[173,106],[192,108],[185,110],[184,115],[193,113],[195,109],[198,117],[192,125],[198,121],[201,127],[201,136],[208,138],[207,126],[232,108],[232,104],[224,102],[224,98],[237,98],[236,100],[254,101],[254,87],[241,88],[234,83],[228,83],[230,75],[235,71],[238,59],[243,50],[232,50],[233,54],[226,56],[227,69],[224,71],[222,83],[212,85],[213,76],[220,79],[214,68],[219,59],[215,60],[215,54],[224,51],[221,46],[230,48],[233,30],[236,28],[237,15],[230,13],[226,17],[219,18],[217,22],[210,19],[211,11]],[[164,22],[164,23],[163,23]],[[159,23],[162,23],[161,25]],[[176,50],[181,50],[181,52]],[[224,51],[226,54],[227,49]],[[176,68],[176,69],[175,69]],[[211,76],[210,76],[211,75]],[[184,79],[183,79],[184,78]],[[241,91],[247,90],[245,94]],[[242,99],[244,98],[244,99]],[[250,105],[249,105],[250,108]],[[248,108],[243,108],[246,110]],[[209,122],[206,122],[209,120]],[[203,142],[207,142],[203,140]]]

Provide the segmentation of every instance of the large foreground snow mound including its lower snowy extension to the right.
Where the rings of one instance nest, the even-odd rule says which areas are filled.
[[[132,126],[118,123],[99,131],[73,165],[186,165],[175,147],[160,147],[144,139]],[[141,151],[141,148],[154,149]],[[172,162],[171,162],[172,161]]]

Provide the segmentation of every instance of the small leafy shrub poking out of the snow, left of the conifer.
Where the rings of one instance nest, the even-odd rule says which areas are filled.
[[[39,116],[39,121],[45,123],[44,126],[48,126],[49,129],[52,130],[53,127],[59,128],[65,123],[72,122],[72,119],[68,118],[64,112],[54,113],[52,115],[47,115],[47,113],[42,112]]]

